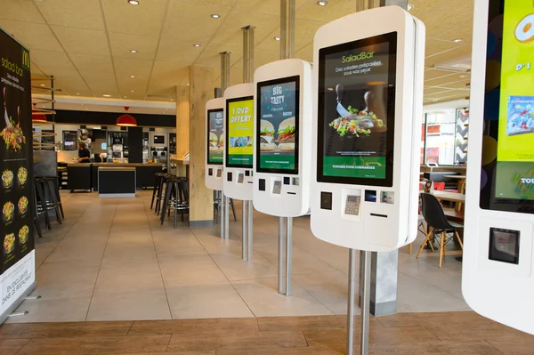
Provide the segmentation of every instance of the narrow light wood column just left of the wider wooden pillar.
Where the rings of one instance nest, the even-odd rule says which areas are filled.
[[[176,157],[182,157],[190,150],[190,87],[176,86]],[[176,174],[186,176],[186,165],[177,164]]]

